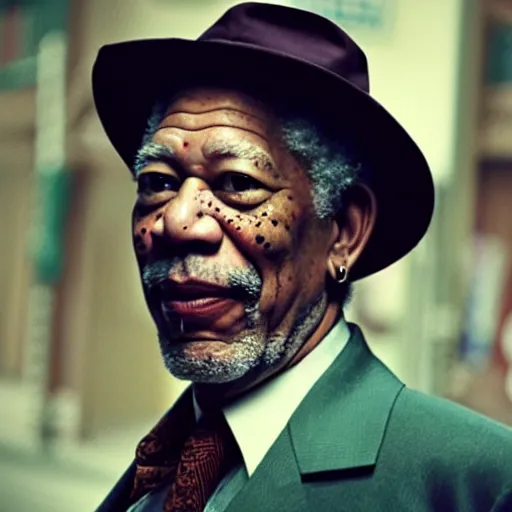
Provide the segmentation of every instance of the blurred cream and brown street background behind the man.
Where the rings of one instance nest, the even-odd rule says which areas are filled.
[[[105,43],[195,38],[235,3],[0,0],[0,512],[94,510],[184,387],[90,73]],[[348,30],[435,176],[429,234],[356,286],[348,319],[410,387],[512,426],[512,1],[273,3]]]

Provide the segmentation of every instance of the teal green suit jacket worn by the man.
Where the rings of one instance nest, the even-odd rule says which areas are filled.
[[[227,511],[512,512],[512,430],[408,389],[350,328]],[[133,471],[98,512],[126,508]]]

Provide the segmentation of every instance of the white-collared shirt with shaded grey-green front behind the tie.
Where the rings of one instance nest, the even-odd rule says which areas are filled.
[[[222,512],[243,488],[316,381],[350,338],[343,318],[302,361],[223,408],[243,465],[230,471],[208,500],[205,512]],[[196,418],[201,415],[194,397]],[[161,512],[168,486],[148,493],[129,512]]]

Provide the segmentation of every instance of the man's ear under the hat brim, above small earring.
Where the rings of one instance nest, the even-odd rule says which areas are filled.
[[[370,188],[358,184],[347,190],[342,211],[335,217],[332,227],[327,268],[333,279],[337,278],[340,266],[346,267],[350,275],[350,269],[370,239],[376,218],[377,200]]]

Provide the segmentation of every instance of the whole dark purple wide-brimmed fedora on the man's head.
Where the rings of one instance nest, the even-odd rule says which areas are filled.
[[[162,84],[171,97],[186,83],[215,80],[234,86],[244,82],[308,105],[331,133],[338,128],[340,138],[343,133],[355,138],[369,169],[377,219],[351,269],[352,280],[387,267],[421,240],[434,207],[428,164],[402,126],[370,96],[361,48],[326,18],[279,5],[242,3],[197,40],[104,46],[92,76],[99,118],[130,168]]]

